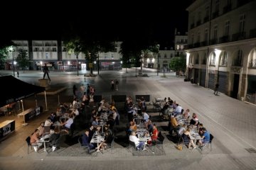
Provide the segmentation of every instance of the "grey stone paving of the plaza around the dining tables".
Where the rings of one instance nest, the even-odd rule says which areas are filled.
[[[173,73],[159,73],[151,69],[144,69],[149,77],[137,77],[135,69],[122,71],[105,71],[96,74],[96,77],[84,77],[85,72],[50,72],[50,89],[65,90],[57,94],[48,94],[48,111],[44,111],[38,118],[28,121],[22,126],[23,118],[18,116],[0,117],[4,120],[16,120],[16,131],[0,143],[0,170],[1,169],[256,169],[256,106],[238,101],[234,98],[220,94],[215,96],[213,90],[206,89]],[[0,72],[9,75],[12,72]],[[38,79],[43,77],[43,72],[20,72],[23,81],[38,85]],[[110,81],[119,81],[119,90],[110,90]],[[170,97],[184,109],[189,108],[191,113],[197,113],[199,121],[213,134],[212,150],[203,152],[198,149],[182,151],[175,148],[176,144],[169,140],[168,132],[164,129],[166,121],[157,120],[158,113],[151,112],[154,120],[164,133],[164,154],[133,156],[122,141],[117,138],[113,152],[104,154],[85,155],[80,150],[75,150],[76,143],[63,143],[65,150],[76,154],[46,154],[46,152],[30,152],[27,154],[26,137],[46,120],[50,112],[55,112],[58,103],[70,102],[73,94],[73,85],[95,87],[96,95],[102,95],[110,101],[112,95],[149,94],[151,101],[154,98]],[[17,87],[18,88],[18,87]],[[48,91],[50,91],[50,89]],[[21,89],[22,90],[22,89]],[[72,98],[71,98],[72,99]],[[24,100],[24,107],[39,106],[46,109],[44,95],[32,96]],[[151,108],[150,105],[148,105]],[[124,114],[120,115],[124,118]],[[120,125],[122,126],[122,125]],[[79,133],[79,132],[78,132]],[[117,136],[118,137],[118,136]]]

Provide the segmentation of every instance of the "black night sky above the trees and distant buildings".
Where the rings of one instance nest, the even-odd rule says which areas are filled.
[[[155,1],[7,1],[1,39],[56,39],[69,33],[117,40],[151,38],[169,46],[174,29],[188,30],[191,0]]]

